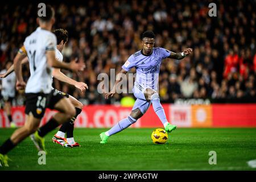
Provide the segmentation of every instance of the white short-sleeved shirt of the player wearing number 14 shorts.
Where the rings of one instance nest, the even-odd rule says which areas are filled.
[[[46,52],[55,51],[56,42],[52,32],[40,27],[25,39],[24,48],[30,63],[30,78],[25,93],[51,92],[52,68],[47,64]]]

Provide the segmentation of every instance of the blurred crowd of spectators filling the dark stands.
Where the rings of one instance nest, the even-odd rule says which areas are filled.
[[[78,2],[77,2],[78,3]],[[208,15],[210,1],[81,1],[53,4],[54,28],[69,32],[64,61],[79,57],[86,68],[79,74],[63,71],[89,86],[85,94],[54,80],[55,88],[84,104],[119,103],[126,94],[105,100],[98,93],[97,76],[110,68],[119,72],[127,58],[141,49],[146,30],[156,34],[155,47],[173,52],[193,48],[185,59],[166,59],[159,76],[162,102],[177,98],[208,98],[212,102],[254,102],[256,88],[254,1],[219,1],[217,16]],[[14,56],[24,38],[37,27],[36,5],[1,5],[0,70]],[[133,69],[131,72],[134,72]],[[28,66],[23,67],[25,80]],[[22,93],[17,93],[22,101]],[[132,96],[132,94],[130,94]]]

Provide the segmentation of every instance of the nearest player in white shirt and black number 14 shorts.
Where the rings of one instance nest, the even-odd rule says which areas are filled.
[[[26,96],[26,122],[23,127],[15,130],[9,139],[0,147],[0,166],[8,167],[7,152],[12,150],[23,139],[31,135],[31,139],[39,151],[45,151],[44,136],[59,126],[68,122],[75,113],[75,107],[68,98],[57,94],[52,90],[52,67],[71,69],[72,71],[82,71],[84,63],[63,63],[55,58],[56,36],[51,32],[55,23],[55,12],[51,6],[46,6],[46,13],[42,16],[38,14],[39,27],[36,31],[27,36],[22,48],[15,56],[14,70],[16,74],[16,89],[25,89]],[[26,83],[22,77],[21,62],[28,56],[30,62],[30,78]],[[37,130],[40,120],[43,118],[46,107],[59,110],[46,123],[44,130]],[[34,133],[34,134],[33,134]]]

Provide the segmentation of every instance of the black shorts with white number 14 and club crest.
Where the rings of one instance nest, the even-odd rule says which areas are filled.
[[[64,96],[57,94],[52,90],[49,94],[44,93],[26,93],[26,109],[25,113],[32,113],[35,118],[43,118],[46,108],[54,109],[55,104]]]

